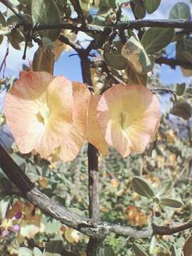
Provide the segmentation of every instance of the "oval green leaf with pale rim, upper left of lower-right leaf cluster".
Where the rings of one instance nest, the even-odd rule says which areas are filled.
[[[155,196],[154,189],[151,185],[144,180],[144,178],[139,176],[134,176],[132,178],[132,188],[141,196],[145,196],[147,198],[153,198]]]

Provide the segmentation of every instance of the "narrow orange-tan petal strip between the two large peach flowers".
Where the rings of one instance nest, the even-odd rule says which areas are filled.
[[[88,112],[87,141],[94,145],[106,156],[108,154],[107,142],[102,135],[97,121],[97,104],[101,95],[90,95],[90,107]]]

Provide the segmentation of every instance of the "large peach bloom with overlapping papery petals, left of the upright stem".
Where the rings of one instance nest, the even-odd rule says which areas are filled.
[[[85,85],[46,72],[21,75],[6,95],[6,121],[21,153],[70,161],[85,141],[90,92]],[[81,111],[82,110],[82,111]]]

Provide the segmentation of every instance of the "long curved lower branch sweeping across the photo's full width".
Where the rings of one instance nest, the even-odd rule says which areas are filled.
[[[70,210],[60,206],[53,199],[48,198],[41,193],[30,181],[30,179],[23,173],[21,168],[11,159],[11,156],[5,151],[0,144],[0,166],[6,176],[17,186],[21,191],[21,196],[36,205],[41,210],[46,211],[48,215],[60,220],[61,223],[68,225],[71,228],[79,230],[81,233],[93,237],[101,238],[103,235],[115,233],[117,235],[130,236],[132,238],[146,238],[154,235],[173,235],[174,233],[182,232],[192,228],[192,222],[184,223],[176,227],[157,226],[152,225],[152,228],[144,230],[135,230],[131,227],[124,227],[122,225],[115,225],[111,223],[92,223],[90,218],[80,216]]]

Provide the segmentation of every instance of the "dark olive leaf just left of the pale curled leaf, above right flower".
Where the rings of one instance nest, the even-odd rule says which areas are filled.
[[[112,68],[122,70],[127,67],[127,61],[122,57],[122,43],[121,41],[114,41],[114,49],[110,48],[109,43],[107,43],[103,49],[103,58],[107,65],[112,66]]]

